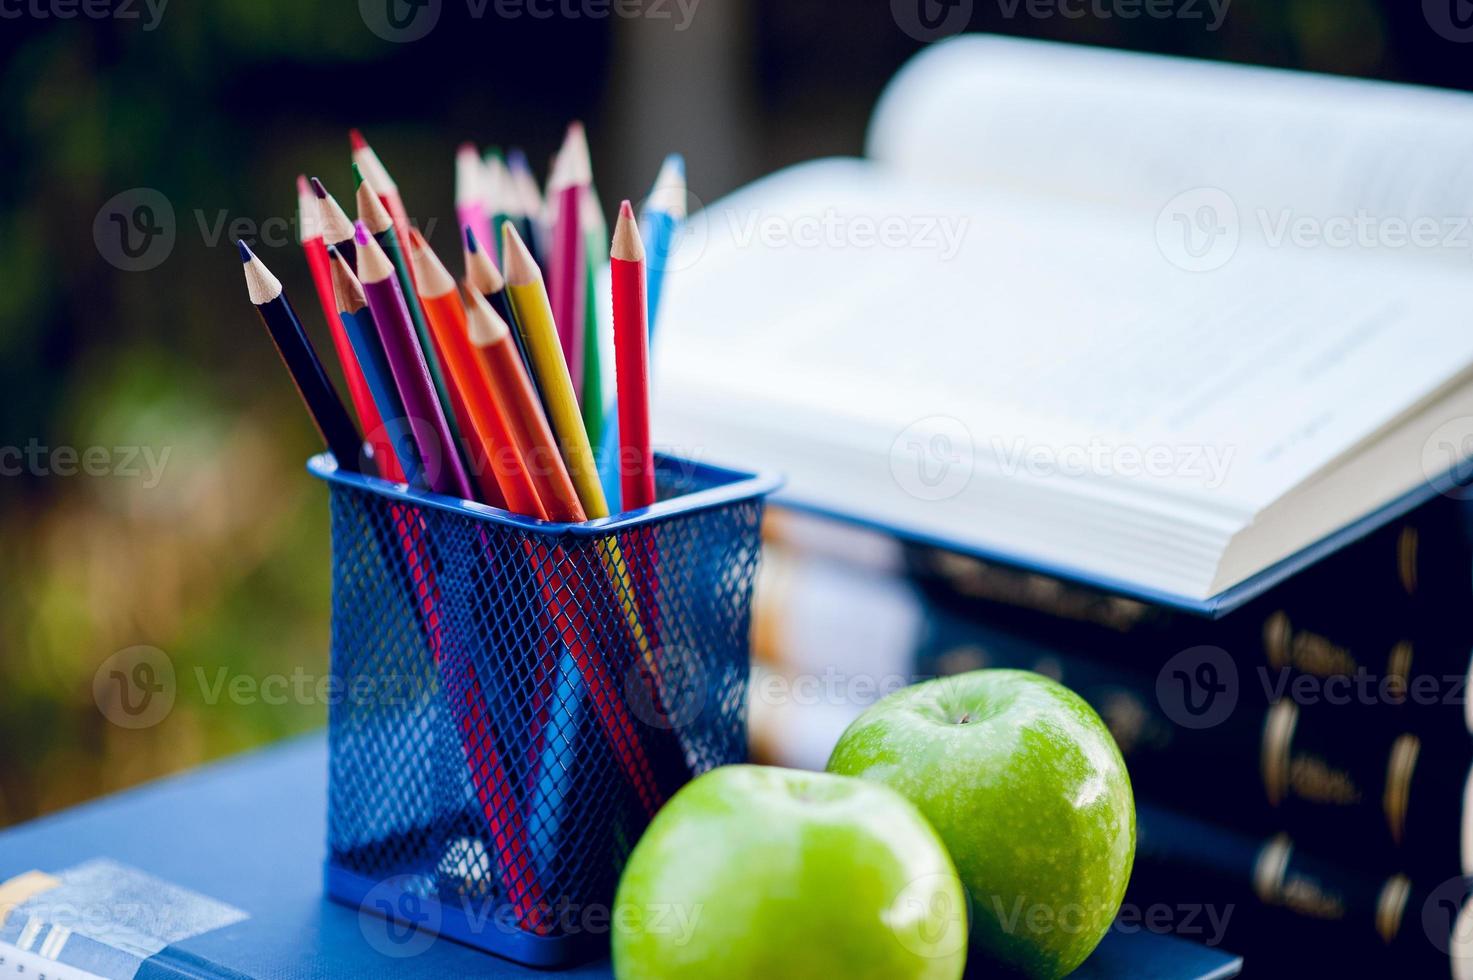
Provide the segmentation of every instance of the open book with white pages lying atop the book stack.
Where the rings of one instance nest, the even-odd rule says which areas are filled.
[[[1200,606],[1473,449],[1473,96],[1037,41],[701,211],[657,438]]]

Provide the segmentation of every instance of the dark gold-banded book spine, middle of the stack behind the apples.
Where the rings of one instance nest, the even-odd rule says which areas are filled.
[[[1047,673],[1109,727],[1136,793],[1254,830],[1287,828],[1321,853],[1376,869],[1452,874],[1464,867],[1464,793],[1473,747],[1388,724],[1376,706],[1239,704],[1193,727],[1162,676],[1072,656],[1031,638],[937,615],[918,675],[1015,668]],[[1175,715],[1175,716],[1174,716]]]

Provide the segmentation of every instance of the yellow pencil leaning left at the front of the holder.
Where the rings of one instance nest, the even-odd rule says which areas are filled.
[[[504,252],[507,253],[507,295],[516,314],[517,329],[532,360],[532,373],[542,392],[542,407],[552,423],[552,433],[567,463],[569,476],[577,488],[583,511],[591,517],[607,517],[608,503],[598,483],[598,467],[588,444],[588,430],[573,395],[573,379],[567,373],[563,349],[558,345],[552,307],[548,302],[542,271],[532,261],[527,246],[513,225],[504,225]]]

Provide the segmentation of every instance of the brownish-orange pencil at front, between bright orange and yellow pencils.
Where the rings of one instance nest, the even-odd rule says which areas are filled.
[[[516,234],[516,231],[511,231]],[[492,398],[507,420],[513,445],[549,520],[576,523],[588,514],[557,448],[542,405],[511,340],[511,329],[470,281],[465,283],[467,336],[486,371]]]

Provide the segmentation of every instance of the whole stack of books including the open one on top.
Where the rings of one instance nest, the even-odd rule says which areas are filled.
[[[695,215],[655,438],[788,479],[759,755],[1052,673],[1131,769],[1133,927],[1473,976],[1470,212],[1467,94],[968,37]]]

